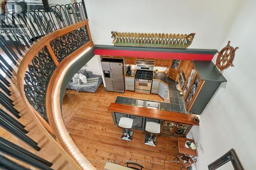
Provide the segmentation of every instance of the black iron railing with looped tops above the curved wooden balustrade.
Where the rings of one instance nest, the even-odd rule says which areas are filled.
[[[74,23],[88,19],[83,4],[55,5],[20,13],[1,14],[0,47],[6,57],[17,65],[22,56],[38,39]],[[1,56],[1,61],[3,57]]]

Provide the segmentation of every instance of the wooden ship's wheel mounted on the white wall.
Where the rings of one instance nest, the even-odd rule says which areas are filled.
[[[222,48],[217,57],[215,65],[220,69],[220,74],[222,74],[224,68],[227,68],[228,66],[234,66],[232,61],[234,59],[234,52],[236,52],[238,47],[233,48],[229,44],[230,41],[228,41],[227,45]]]

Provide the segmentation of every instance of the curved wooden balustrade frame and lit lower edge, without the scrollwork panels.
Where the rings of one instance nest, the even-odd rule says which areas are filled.
[[[79,29],[83,26],[86,26],[89,41],[78,48],[75,52],[68,55],[65,59],[63,59],[60,63],[58,62],[51,46],[50,42],[55,40],[56,38],[65,35],[73,30]],[[26,70],[28,69],[29,64],[31,63],[33,57],[44,47],[46,46],[49,54],[53,62],[56,65],[56,68],[50,78],[47,91],[46,91],[46,112],[47,117],[49,119],[49,124],[46,122],[44,118],[42,118],[37,111],[30,105],[29,101],[25,96],[24,91],[24,80]],[[60,150],[63,150],[63,154],[66,156],[67,161],[71,163],[76,169],[95,169],[90,162],[82,155],[82,153],[78,150],[76,144],[73,142],[72,138],[67,131],[65,124],[63,122],[62,114],[61,114],[61,105],[60,105],[60,88],[63,78],[67,73],[68,69],[71,65],[76,62],[79,58],[81,58],[84,54],[90,51],[93,48],[93,42],[90,35],[90,29],[88,25],[88,20],[80,21],[72,26],[63,28],[61,30],[57,30],[46,37],[42,38],[38,41],[34,46],[30,48],[27,54],[24,56],[22,62],[20,62],[18,71],[17,71],[17,86],[22,96],[22,100],[26,103],[28,109],[33,113],[34,118],[37,119],[38,124],[45,127],[45,129],[49,132],[49,138],[52,136],[56,137],[56,140],[59,144]],[[92,49],[93,50],[93,49]],[[61,147],[60,147],[61,146]],[[66,151],[66,152],[65,152]]]

